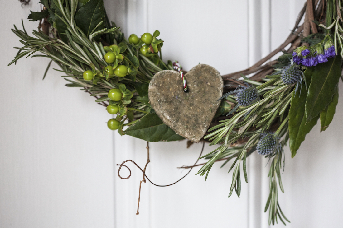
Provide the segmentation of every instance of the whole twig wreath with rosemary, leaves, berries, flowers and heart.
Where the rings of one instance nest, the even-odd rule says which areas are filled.
[[[28,16],[29,21],[39,21],[34,37],[27,34],[24,24],[23,30],[12,29],[23,47],[16,47],[19,51],[10,64],[25,55],[51,59],[45,75],[54,61],[68,81],[66,86],[80,87],[116,115],[107,125],[121,135],[148,143],[186,138],[188,145],[199,141],[218,145],[200,155],[199,159],[208,161],[199,164],[197,174],[206,180],[215,162],[225,161],[224,166],[233,159],[229,197],[233,191],[240,195],[240,172],[248,182],[246,157],[257,151],[270,163],[265,205],[269,224],[278,219],[289,222],[277,201],[278,189],[284,192],[283,147],[289,140],[294,157],[318,119],[321,131],[333,119],[342,71],[342,0],[307,0],[279,48],[248,69],[222,76],[205,64],[187,73],[176,61],[164,62],[163,40],[157,38],[157,30],[127,39],[108,21],[103,0],[41,3],[42,11]],[[269,61],[279,52],[283,54],[277,60]],[[119,165],[118,175],[130,161],[141,169],[145,182],[149,144],[147,155],[144,169],[127,160]]]

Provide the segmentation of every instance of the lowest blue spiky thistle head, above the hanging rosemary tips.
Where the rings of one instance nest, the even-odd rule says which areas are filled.
[[[272,156],[276,151],[281,151],[282,147],[279,139],[272,133],[262,133],[260,141],[258,141],[257,153],[262,156]]]

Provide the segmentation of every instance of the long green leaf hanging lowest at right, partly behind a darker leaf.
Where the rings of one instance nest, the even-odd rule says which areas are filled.
[[[307,84],[311,81],[311,75],[314,67],[307,67],[305,77]],[[300,96],[299,93],[300,92]],[[306,87],[303,84],[301,91],[292,92],[291,107],[289,108],[289,148],[291,148],[292,157],[295,156],[300,147],[301,142],[305,140],[305,136],[313,126],[316,125],[319,116],[313,118],[310,123],[306,124],[305,103],[306,103]]]

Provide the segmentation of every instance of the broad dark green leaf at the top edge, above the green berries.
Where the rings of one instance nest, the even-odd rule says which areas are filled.
[[[75,14],[75,23],[88,37],[91,31],[99,24],[102,23],[97,29],[103,29],[105,26],[105,11],[103,0],[90,0],[85,3],[81,9]]]

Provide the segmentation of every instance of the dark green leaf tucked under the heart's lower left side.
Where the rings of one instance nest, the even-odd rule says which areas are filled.
[[[124,133],[149,142],[184,139],[165,125],[156,114],[146,114],[137,123],[126,129]]]

